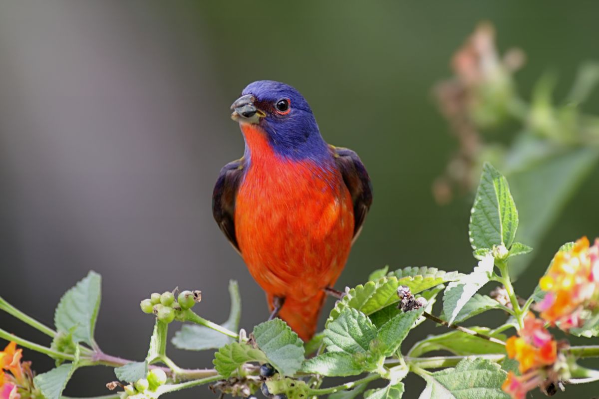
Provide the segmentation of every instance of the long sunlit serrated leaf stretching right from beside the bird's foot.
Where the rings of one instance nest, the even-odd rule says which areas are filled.
[[[360,310],[369,316],[386,306],[397,303],[400,300],[397,296],[397,288],[400,285],[410,288],[412,294],[418,294],[444,282],[455,281],[461,276],[460,273],[446,273],[434,267],[406,267],[406,269],[396,270],[376,282],[369,281],[364,285],[346,290],[343,299],[335,303],[326,325],[334,321],[346,307]]]

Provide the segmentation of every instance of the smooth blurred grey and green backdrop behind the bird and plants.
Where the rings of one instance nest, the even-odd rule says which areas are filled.
[[[433,89],[486,20],[501,53],[517,46],[526,54],[514,81],[522,99],[547,71],[559,78],[555,96],[565,96],[579,66],[599,60],[597,13],[590,1],[1,1],[0,295],[52,324],[60,295],[95,270],[104,294],[96,340],[135,360],[153,325],[139,301],[153,291],[202,290],[198,312],[222,322],[228,281],[237,279],[242,327],[267,318],[264,294],[211,215],[220,167],[243,153],[229,105],[261,79],[297,87],[326,141],[356,150],[370,172],[374,205],[337,288],[385,264],[468,272],[473,194],[462,187],[435,200],[431,190],[460,146]],[[591,93],[582,109],[598,106]],[[521,129],[507,121],[491,139],[509,145]],[[516,237],[535,246],[516,283],[523,295],[559,245],[599,236],[599,169],[589,159],[584,173],[564,177],[577,184],[556,199],[534,242]],[[546,177],[522,199],[533,203],[519,206],[523,225],[525,209],[546,206]],[[0,325],[46,342],[4,313]],[[440,329],[416,331],[404,348]],[[169,350],[181,366],[211,366],[211,351]],[[25,358],[39,372],[52,367],[32,351]],[[113,379],[111,368],[84,368],[65,394],[107,394]],[[410,379],[404,398],[423,386]],[[568,387],[561,397],[590,398],[595,389]],[[172,395],[213,396],[206,388]]]

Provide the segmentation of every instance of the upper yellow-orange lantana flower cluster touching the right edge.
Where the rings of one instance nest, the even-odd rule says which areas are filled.
[[[599,239],[582,237],[569,251],[559,251],[540,281],[546,295],[536,309],[561,330],[582,327],[596,313],[599,299]]]

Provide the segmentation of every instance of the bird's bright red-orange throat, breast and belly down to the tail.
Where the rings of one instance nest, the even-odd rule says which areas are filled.
[[[285,297],[280,316],[309,339],[349,255],[353,203],[331,163],[276,154],[261,127],[242,124],[250,159],[235,203],[235,236],[253,278],[269,299]],[[271,303],[271,300],[269,300]]]

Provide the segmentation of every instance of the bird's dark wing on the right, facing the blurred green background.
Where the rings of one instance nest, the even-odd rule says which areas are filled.
[[[329,145],[329,147],[331,147],[335,163],[343,176],[343,181],[352,195],[353,241],[355,241],[360,234],[368,209],[373,203],[373,186],[358,154],[348,148],[334,147],[333,145]]]

